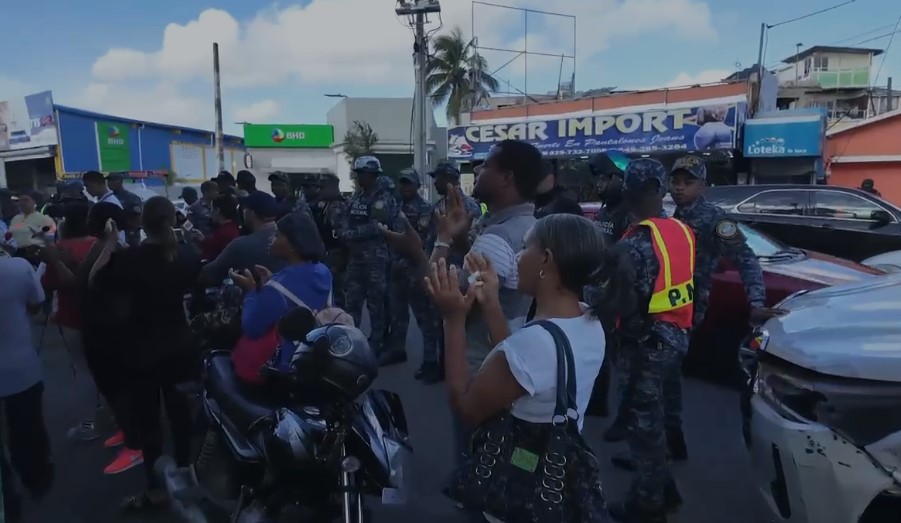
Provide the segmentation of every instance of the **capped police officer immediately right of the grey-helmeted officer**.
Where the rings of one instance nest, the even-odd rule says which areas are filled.
[[[419,195],[421,181],[419,173],[414,169],[405,169],[398,178],[400,182],[400,210],[419,234],[422,244],[435,235],[438,226],[438,215],[435,207]],[[392,290],[389,303],[391,305],[391,329],[388,347],[403,349],[407,340],[407,328],[410,323],[410,308],[416,324],[422,332],[422,365],[416,371],[416,379],[424,383],[437,383],[444,378],[444,367],[438,354],[438,313],[432,300],[422,285],[418,271],[413,270],[410,259],[396,256],[392,260]],[[396,356],[395,356],[396,354]],[[388,353],[390,363],[406,360],[406,353]]]

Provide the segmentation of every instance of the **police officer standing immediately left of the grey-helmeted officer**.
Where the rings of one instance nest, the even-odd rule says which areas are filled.
[[[313,220],[326,249],[326,264],[332,271],[332,296],[335,306],[345,308],[347,283],[347,248],[339,237],[347,200],[339,190],[338,177],[332,173],[320,177],[319,198],[311,208]]]

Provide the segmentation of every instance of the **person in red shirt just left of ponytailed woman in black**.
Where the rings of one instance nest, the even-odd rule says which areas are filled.
[[[53,322],[61,327],[66,343],[74,347],[72,352],[76,375],[79,380],[90,382],[94,388],[91,372],[88,369],[81,347],[81,299],[80,282],[77,278],[79,267],[88,258],[97,239],[90,235],[88,214],[90,204],[70,202],[63,211],[63,220],[59,226],[60,240],[41,250],[41,258],[47,270],[41,278],[41,284],[49,295],[56,293],[57,307]],[[95,405],[97,398],[92,398],[90,405]],[[79,406],[80,408],[80,406]],[[95,429],[94,413],[85,412],[82,421],[69,430],[70,439],[91,441],[99,434]]]

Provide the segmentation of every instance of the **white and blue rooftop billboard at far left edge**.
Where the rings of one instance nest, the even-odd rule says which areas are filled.
[[[0,151],[59,145],[50,91],[0,102]]]

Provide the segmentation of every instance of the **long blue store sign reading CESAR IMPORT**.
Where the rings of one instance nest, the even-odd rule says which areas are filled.
[[[623,95],[620,101],[628,103],[629,98]],[[587,171],[581,165],[584,160],[610,150],[654,157],[665,165],[696,153],[708,159],[712,177],[735,183],[733,158],[747,107],[747,97],[741,94],[514,119],[494,119],[493,111],[487,111],[474,114],[479,120],[470,125],[448,129],[448,158],[465,164],[485,158],[505,139],[523,140],[537,147],[560,174],[567,169]]]

